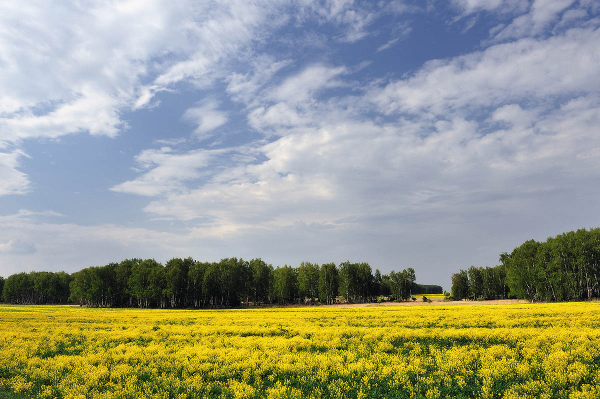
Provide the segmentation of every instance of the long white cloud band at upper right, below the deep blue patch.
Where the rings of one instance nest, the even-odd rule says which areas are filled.
[[[427,62],[409,79],[374,89],[385,113],[444,115],[548,96],[595,93],[600,30],[570,29],[547,40],[521,39],[482,52]]]

